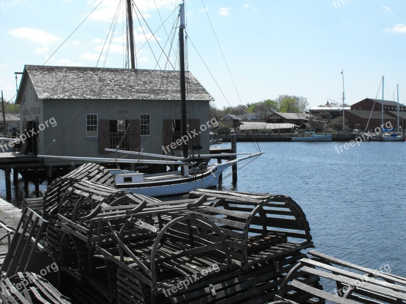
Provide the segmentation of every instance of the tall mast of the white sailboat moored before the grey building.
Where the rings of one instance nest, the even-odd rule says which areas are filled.
[[[187,135],[187,115],[186,115],[186,80],[185,80],[185,44],[184,44],[184,29],[185,29],[185,3],[179,5],[180,26],[179,26],[179,63],[180,63],[180,89],[181,89],[181,111],[182,111],[182,138],[188,138]],[[186,136],[186,137],[185,137]],[[189,142],[189,141],[187,141]],[[188,145],[183,143],[183,158],[188,157]],[[183,165],[183,176],[189,176],[189,166]]]

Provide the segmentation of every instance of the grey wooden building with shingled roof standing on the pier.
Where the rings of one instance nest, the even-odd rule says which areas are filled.
[[[192,145],[208,154],[209,128],[200,126],[209,121],[213,97],[190,72],[186,83],[188,128],[201,131]],[[179,87],[179,71],[26,65],[16,103],[21,129],[39,131],[34,153],[113,157],[105,148],[120,146],[164,154],[162,146],[182,134]]]

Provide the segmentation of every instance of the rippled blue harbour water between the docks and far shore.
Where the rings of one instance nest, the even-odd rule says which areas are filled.
[[[336,144],[259,143],[265,154],[239,171],[235,189],[291,196],[307,216],[316,250],[372,269],[389,263],[406,277],[406,143],[363,142],[341,154]],[[253,143],[238,143],[238,150],[256,151]],[[231,189],[231,178],[223,184]],[[21,182],[12,191],[15,205],[38,195]],[[6,198],[2,170],[0,196]]]

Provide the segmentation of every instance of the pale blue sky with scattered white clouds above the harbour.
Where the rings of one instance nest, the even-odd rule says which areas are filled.
[[[160,52],[170,53],[173,12],[176,17],[181,2],[134,3],[146,20],[134,14],[137,67],[163,69]],[[186,14],[187,68],[219,108],[281,94],[306,97],[312,107],[327,98],[341,103],[342,70],[346,103],[382,98],[382,76],[385,99],[397,98],[399,84],[399,101],[406,103],[404,0],[188,0]],[[14,73],[24,64],[125,65],[120,0],[0,0],[0,20],[0,89],[6,100],[14,100]],[[174,54],[176,46],[166,56]]]

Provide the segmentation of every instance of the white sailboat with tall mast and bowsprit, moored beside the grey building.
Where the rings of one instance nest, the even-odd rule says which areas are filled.
[[[130,11],[130,6],[127,8]],[[184,54],[184,29],[185,29],[185,7],[184,3],[180,4],[180,26],[179,26],[179,63],[180,63],[180,92],[181,92],[181,124],[182,137],[188,138],[187,134],[187,113],[186,113],[186,81],[185,81],[185,54]],[[129,18],[131,18],[130,14]],[[130,43],[132,45],[132,43]],[[131,58],[133,55],[131,54]],[[134,67],[132,67],[134,68]],[[235,163],[242,161],[252,161],[259,157],[263,152],[254,154],[234,153],[221,155],[189,155],[189,144],[183,144],[183,153],[181,157],[149,154],[136,151],[106,149],[107,151],[117,154],[134,155],[137,158],[89,158],[89,157],[70,157],[70,156],[45,156],[39,155],[40,158],[87,161],[97,163],[134,163],[134,164],[162,164],[180,166],[181,170],[164,172],[157,174],[144,174],[138,171],[112,169],[110,172],[114,175],[115,185],[117,188],[138,193],[147,196],[160,197],[169,195],[185,194],[198,188],[209,188],[218,184],[220,175]],[[239,155],[246,155],[235,159]],[[156,158],[159,160],[144,160],[144,157]],[[210,159],[216,157],[232,157],[222,164],[207,166],[205,163],[197,165],[201,159]],[[163,159],[163,160],[162,160]]]

